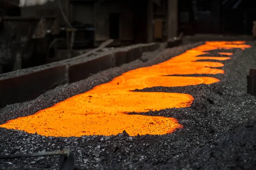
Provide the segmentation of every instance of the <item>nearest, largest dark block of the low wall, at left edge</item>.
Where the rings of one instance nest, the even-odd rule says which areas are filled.
[[[65,65],[0,80],[0,108],[35,99],[65,81]]]

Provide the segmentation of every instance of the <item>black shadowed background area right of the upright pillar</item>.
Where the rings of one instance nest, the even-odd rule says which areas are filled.
[[[252,34],[255,0],[179,0],[179,32]]]

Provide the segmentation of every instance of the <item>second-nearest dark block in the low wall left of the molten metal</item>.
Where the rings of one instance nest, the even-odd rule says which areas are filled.
[[[86,62],[70,65],[70,83],[86,79],[92,74],[96,74],[99,71],[111,68],[114,65],[112,59],[113,57],[111,56],[111,54],[106,54],[105,56],[100,56]]]

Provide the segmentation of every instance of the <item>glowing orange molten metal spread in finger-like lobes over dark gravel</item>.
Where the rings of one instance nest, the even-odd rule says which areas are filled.
[[[230,57],[197,57],[215,49],[250,48],[244,42],[206,42],[185,53],[150,67],[128,71],[111,82],[98,85],[37,113],[10,120],[0,127],[24,130],[44,136],[116,135],[123,130],[131,136],[163,135],[182,128],[175,118],[127,114],[159,111],[166,108],[191,106],[189,94],[164,92],[134,92],[154,86],[178,87],[219,82],[213,77],[179,77],[183,74],[224,74],[220,62],[197,60],[226,60]],[[232,53],[219,53],[232,55]],[[174,75],[174,76],[167,76]],[[171,116],[171,115],[170,115]]]

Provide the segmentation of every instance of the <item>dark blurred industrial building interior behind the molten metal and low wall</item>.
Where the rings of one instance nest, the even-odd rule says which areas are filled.
[[[180,33],[251,34],[253,6],[243,0],[0,0],[0,73],[75,57],[73,49],[109,39],[116,47]]]

